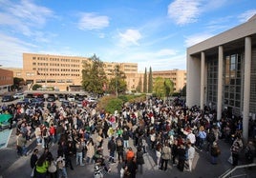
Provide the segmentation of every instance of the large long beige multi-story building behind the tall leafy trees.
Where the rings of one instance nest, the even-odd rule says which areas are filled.
[[[44,87],[53,87],[59,90],[80,90],[83,63],[89,62],[86,57],[61,56],[49,54],[23,54],[23,72],[20,72],[27,83],[40,84]],[[116,67],[126,76],[138,72],[136,63],[104,63],[104,69],[111,78],[115,76]],[[20,74],[17,72],[16,74]],[[127,89],[132,90],[136,81],[130,82],[127,77]]]

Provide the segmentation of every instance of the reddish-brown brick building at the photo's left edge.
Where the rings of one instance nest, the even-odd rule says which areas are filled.
[[[0,69],[0,95],[11,91],[13,72],[9,69]]]

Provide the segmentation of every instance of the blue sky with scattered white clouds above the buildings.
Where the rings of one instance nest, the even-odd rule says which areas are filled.
[[[0,65],[32,52],[186,69],[186,48],[255,13],[254,0],[0,0]]]

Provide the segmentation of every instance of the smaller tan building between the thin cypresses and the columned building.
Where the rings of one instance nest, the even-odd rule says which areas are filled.
[[[181,69],[153,71],[152,77],[153,79],[157,77],[171,79],[175,92],[181,92],[181,89],[186,85],[186,71]]]

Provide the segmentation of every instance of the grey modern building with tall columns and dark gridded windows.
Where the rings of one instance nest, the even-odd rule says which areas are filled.
[[[243,117],[243,137],[248,120],[256,113],[256,15],[187,49],[186,103]]]

